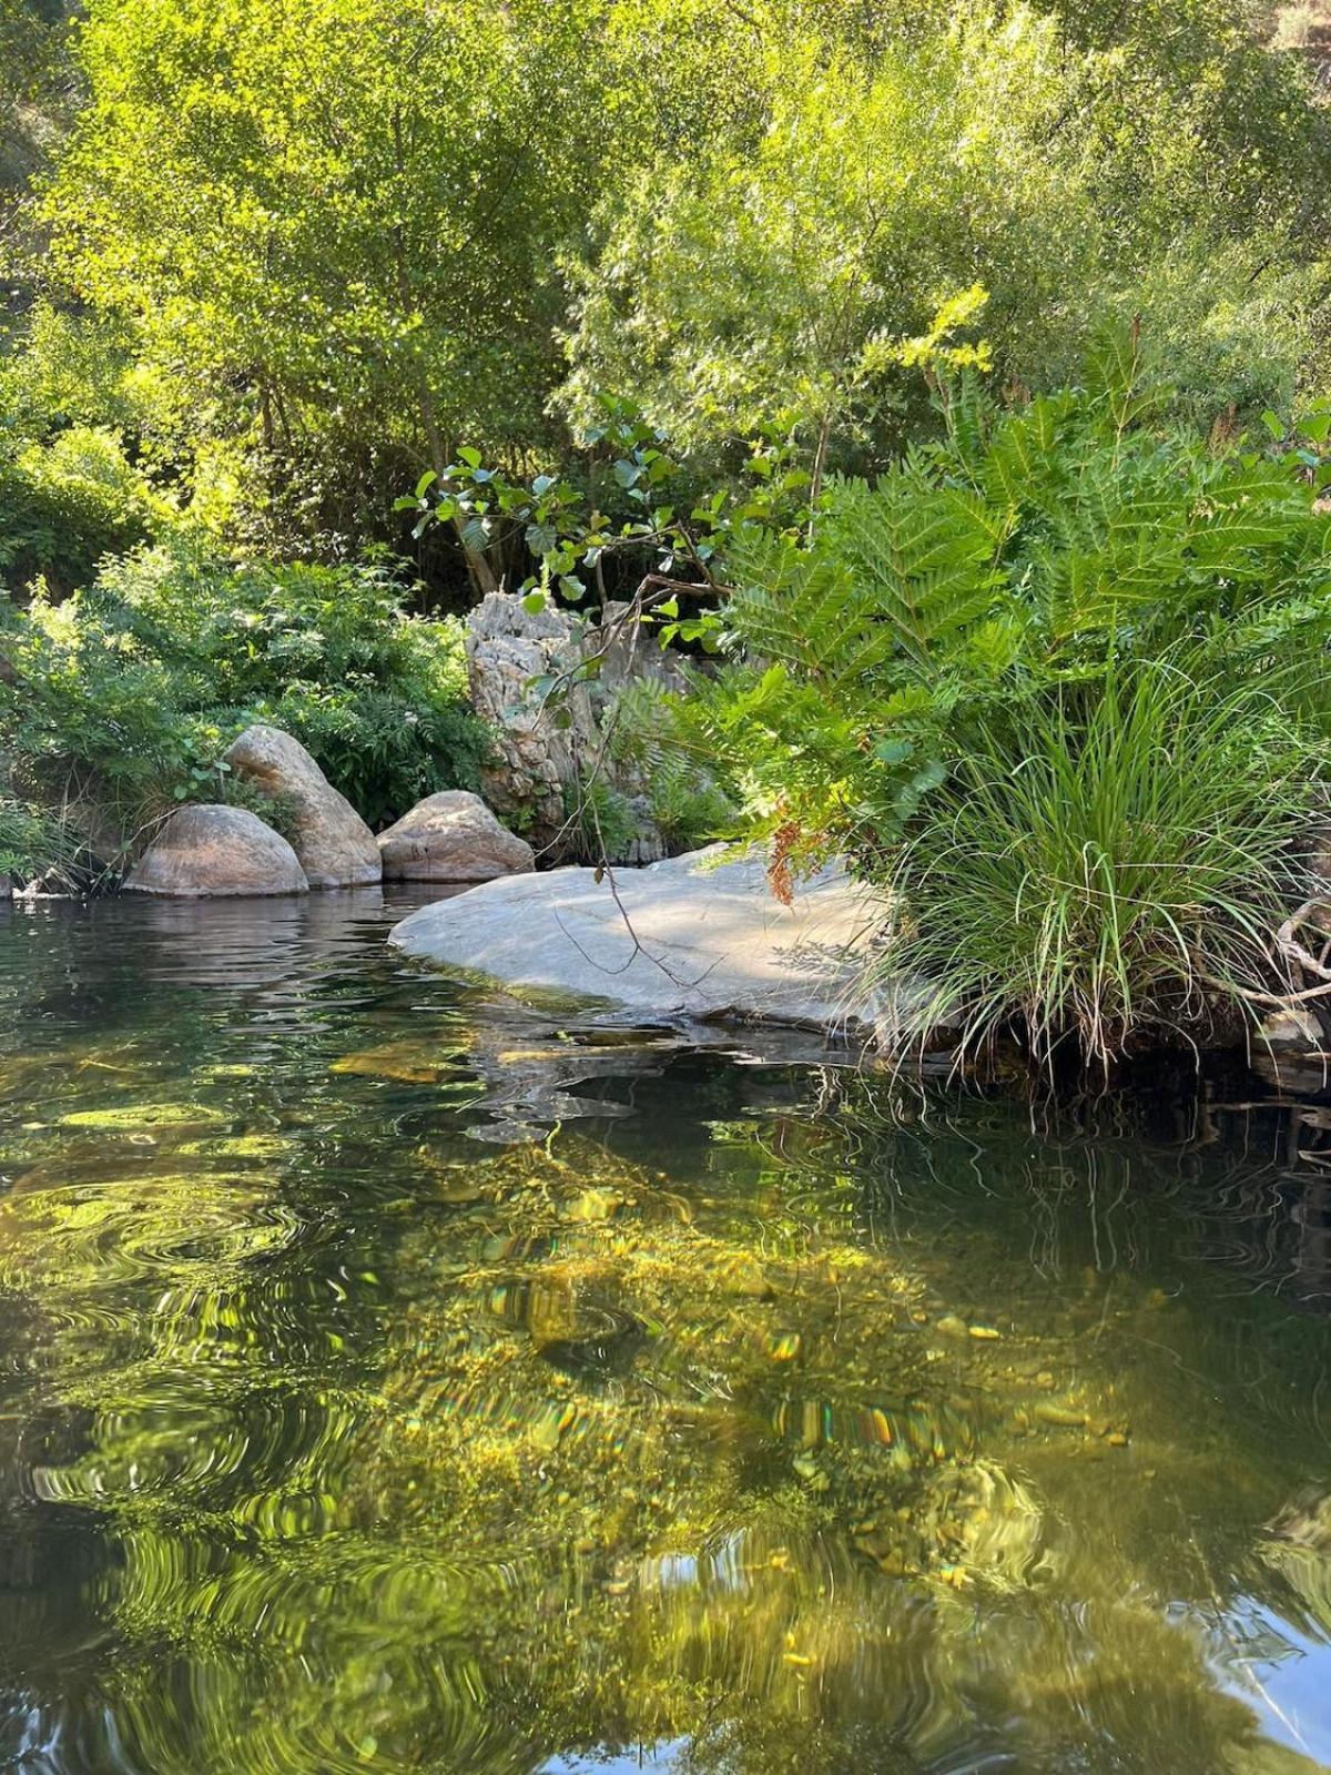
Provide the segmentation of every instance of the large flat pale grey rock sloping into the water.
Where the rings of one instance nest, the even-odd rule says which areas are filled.
[[[909,994],[866,982],[886,905],[829,868],[783,905],[761,856],[724,847],[596,879],[589,868],[490,882],[396,925],[403,953],[555,989],[653,1019],[740,1017],[864,1031],[909,1021]]]

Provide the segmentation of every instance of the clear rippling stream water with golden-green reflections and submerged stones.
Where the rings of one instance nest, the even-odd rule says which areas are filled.
[[[0,1768],[1331,1770],[1331,1115],[488,1003],[396,911],[4,914]]]

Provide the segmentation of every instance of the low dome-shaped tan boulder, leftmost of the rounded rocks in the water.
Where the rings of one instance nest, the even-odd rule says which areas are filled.
[[[126,893],[309,893],[286,838],[247,808],[202,804],[172,813],[124,882]]]

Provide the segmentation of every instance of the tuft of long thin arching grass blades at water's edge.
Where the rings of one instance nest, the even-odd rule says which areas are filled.
[[[1111,673],[1086,714],[1047,692],[1012,717],[981,726],[896,864],[882,966],[925,982],[930,1024],[962,1053],[1015,1030],[1042,1061],[1074,1044],[1106,1069],[1269,990],[1320,747],[1260,689],[1177,660]]]

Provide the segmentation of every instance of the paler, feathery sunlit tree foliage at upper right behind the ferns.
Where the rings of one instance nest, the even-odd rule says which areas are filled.
[[[1207,424],[1288,399],[1315,355],[1324,193],[1278,170],[1274,115],[1327,172],[1331,122],[1225,7],[1168,11],[1116,9],[1132,57],[1024,5],[887,23],[871,57],[783,46],[745,128],[607,186],[568,263],[568,410],[625,389],[687,449],[793,424],[811,456],[871,465],[928,426],[894,344],[974,280],[1017,385],[1067,380],[1136,312]],[[1262,91],[1251,110],[1216,103],[1230,75]],[[1221,147],[1240,117],[1262,146]]]

